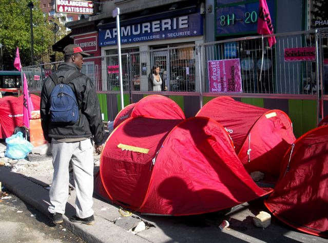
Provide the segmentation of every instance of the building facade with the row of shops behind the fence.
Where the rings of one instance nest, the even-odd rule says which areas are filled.
[[[285,111],[297,124],[296,135],[301,135],[316,126],[320,112],[328,110],[326,105],[319,108],[317,62],[286,62],[284,52],[315,48],[315,34],[310,31],[314,28],[308,26],[325,23],[321,14],[325,3],[319,2],[267,0],[277,40],[273,47],[268,46],[268,37],[257,34],[259,2],[253,0],[104,1],[101,12],[66,27],[73,42],[91,54],[83,72],[94,80],[106,120],[121,110],[118,31],[112,16],[120,8],[125,105],[153,93],[148,91],[148,75],[159,66],[167,86],[160,94],[175,100],[187,117],[209,99],[230,95]],[[318,9],[320,16],[313,14]],[[228,59],[238,59],[242,92],[213,92],[208,62]]]

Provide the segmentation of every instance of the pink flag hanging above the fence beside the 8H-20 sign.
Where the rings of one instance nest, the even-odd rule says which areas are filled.
[[[259,5],[259,19],[257,22],[257,32],[259,34],[273,34],[274,28],[271,22],[271,17],[269,13],[269,9],[267,7],[265,0],[260,0]],[[269,47],[276,44],[276,37],[272,36],[268,38]]]

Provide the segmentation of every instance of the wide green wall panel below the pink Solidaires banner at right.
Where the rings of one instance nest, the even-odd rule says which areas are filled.
[[[293,123],[296,137],[317,126],[317,102],[309,99],[288,100],[288,116]]]

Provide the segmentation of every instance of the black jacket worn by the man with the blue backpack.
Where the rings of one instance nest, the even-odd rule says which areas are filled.
[[[55,72],[57,76],[71,75],[72,72],[79,72],[78,66],[71,63],[62,63]],[[55,87],[50,77],[45,80],[41,92],[41,125],[46,140],[51,142],[51,138],[82,138],[92,137],[95,145],[103,143],[104,125],[100,113],[100,107],[95,88],[89,77],[82,75],[74,78],[68,84],[74,91],[78,101],[80,118],[73,125],[56,125],[50,122],[50,94]]]

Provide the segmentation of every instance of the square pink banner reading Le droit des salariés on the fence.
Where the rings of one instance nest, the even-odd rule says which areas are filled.
[[[209,92],[243,92],[239,58],[208,61]]]

